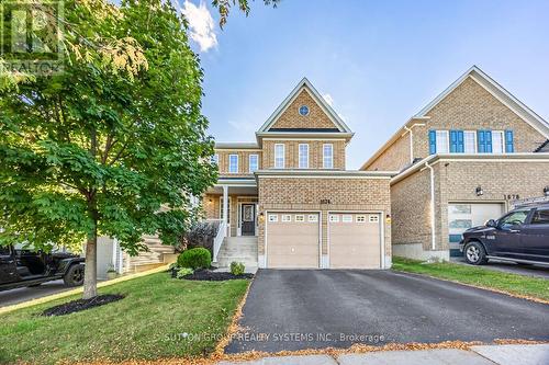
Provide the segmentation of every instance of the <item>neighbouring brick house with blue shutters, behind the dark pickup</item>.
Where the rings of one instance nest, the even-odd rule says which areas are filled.
[[[393,254],[448,260],[461,233],[549,195],[549,125],[478,67],[361,168],[391,180]]]

